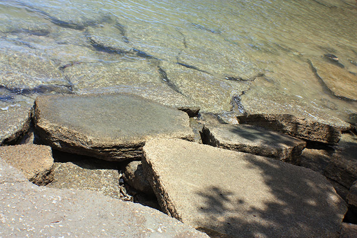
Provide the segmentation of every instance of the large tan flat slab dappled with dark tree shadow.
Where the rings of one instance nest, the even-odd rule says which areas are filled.
[[[344,201],[321,174],[179,139],[143,148],[143,169],[170,216],[237,238],[337,238]]]

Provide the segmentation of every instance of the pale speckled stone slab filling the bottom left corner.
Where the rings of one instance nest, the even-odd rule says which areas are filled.
[[[0,160],[0,237],[197,237],[155,209],[95,192],[38,187]]]

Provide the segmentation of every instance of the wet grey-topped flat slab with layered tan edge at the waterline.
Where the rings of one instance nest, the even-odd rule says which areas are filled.
[[[113,161],[141,158],[150,138],[194,136],[185,112],[126,94],[39,96],[34,121],[46,145]]]

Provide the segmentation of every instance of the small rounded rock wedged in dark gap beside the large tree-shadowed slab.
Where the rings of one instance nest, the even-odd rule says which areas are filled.
[[[126,167],[124,171],[124,180],[132,186],[134,189],[143,192],[145,194],[153,194],[148,180],[145,177],[142,169],[141,161],[132,161]]]

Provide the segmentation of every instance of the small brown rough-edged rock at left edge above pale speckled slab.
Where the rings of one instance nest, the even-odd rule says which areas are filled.
[[[39,186],[53,179],[53,158],[49,146],[1,146],[0,158],[20,170],[28,180]]]

